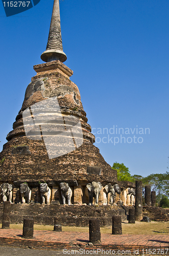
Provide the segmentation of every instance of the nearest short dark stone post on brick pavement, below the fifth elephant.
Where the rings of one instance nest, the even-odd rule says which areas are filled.
[[[97,219],[89,220],[89,240],[92,244],[98,244],[101,241],[100,221]]]

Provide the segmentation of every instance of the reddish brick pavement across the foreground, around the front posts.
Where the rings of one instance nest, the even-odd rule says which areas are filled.
[[[135,235],[135,234],[101,234],[101,243],[89,246],[89,233],[84,232],[54,232],[34,230],[33,239],[22,239],[21,229],[0,229],[0,245],[30,247],[52,250],[138,250],[144,254],[169,254],[169,236],[166,235]],[[144,249],[144,251],[143,251]],[[164,250],[164,253],[163,253]],[[124,253],[122,253],[124,254]]]

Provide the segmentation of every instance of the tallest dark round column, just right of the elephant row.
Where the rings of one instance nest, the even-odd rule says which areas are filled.
[[[135,220],[143,219],[142,181],[135,181]]]

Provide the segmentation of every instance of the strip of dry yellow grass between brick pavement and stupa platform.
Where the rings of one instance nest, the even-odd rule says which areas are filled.
[[[12,229],[22,229],[22,224],[11,224]],[[34,225],[34,230],[53,230],[53,226],[48,225]],[[62,227],[63,231],[69,232],[89,232],[89,227]],[[129,224],[122,223],[123,234],[169,234],[169,222],[138,222]],[[111,227],[101,228],[101,233],[111,233]]]

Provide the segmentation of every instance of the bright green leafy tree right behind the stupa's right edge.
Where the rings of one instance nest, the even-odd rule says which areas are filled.
[[[128,167],[126,167],[124,163],[116,162],[111,168],[117,170],[118,181],[135,181],[135,179],[131,176]]]

